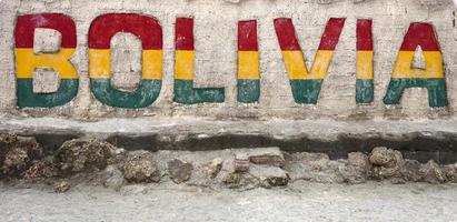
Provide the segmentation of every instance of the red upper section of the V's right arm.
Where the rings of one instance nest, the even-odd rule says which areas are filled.
[[[320,38],[319,50],[335,50],[345,21],[345,18],[330,18],[328,20],[324,34]]]

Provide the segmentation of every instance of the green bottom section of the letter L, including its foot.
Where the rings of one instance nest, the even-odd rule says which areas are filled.
[[[193,88],[193,80],[175,80],[175,102],[196,104],[221,103],[226,99],[225,88]]]

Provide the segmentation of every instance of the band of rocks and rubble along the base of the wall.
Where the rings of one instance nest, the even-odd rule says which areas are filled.
[[[421,164],[416,160],[404,160],[399,151],[388,148],[375,148],[368,155],[354,152],[347,159],[330,160],[325,153],[286,153],[285,157],[278,148],[208,153],[163,151],[156,155],[85,139],[67,141],[56,155],[44,158],[42,148],[33,138],[14,134],[0,134],[0,175],[3,178],[44,183],[52,179],[88,180],[91,184],[117,191],[128,182],[158,183],[161,172],[166,171],[170,181],[177,184],[186,182],[195,186],[246,190],[286,186],[300,180],[349,184],[372,179],[391,183],[457,182],[457,164],[439,165],[433,160]],[[56,184],[57,192],[69,189],[64,181],[59,183]]]

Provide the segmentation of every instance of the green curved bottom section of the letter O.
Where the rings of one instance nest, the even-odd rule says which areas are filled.
[[[160,94],[161,80],[141,80],[133,92],[125,92],[111,85],[110,79],[90,79],[92,94],[103,104],[115,108],[146,108]]]

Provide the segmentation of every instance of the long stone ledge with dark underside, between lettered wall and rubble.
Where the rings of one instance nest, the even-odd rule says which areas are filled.
[[[288,152],[324,152],[331,159],[389,147],[408,159],[456,162],[456,120],[219,121],[195,118],[137,118],[78,122],[54,118],[0,118],[0,132],[30,135],[57,150],[76,138],[96,138],[126,150],[222,150],[279,147]]]

